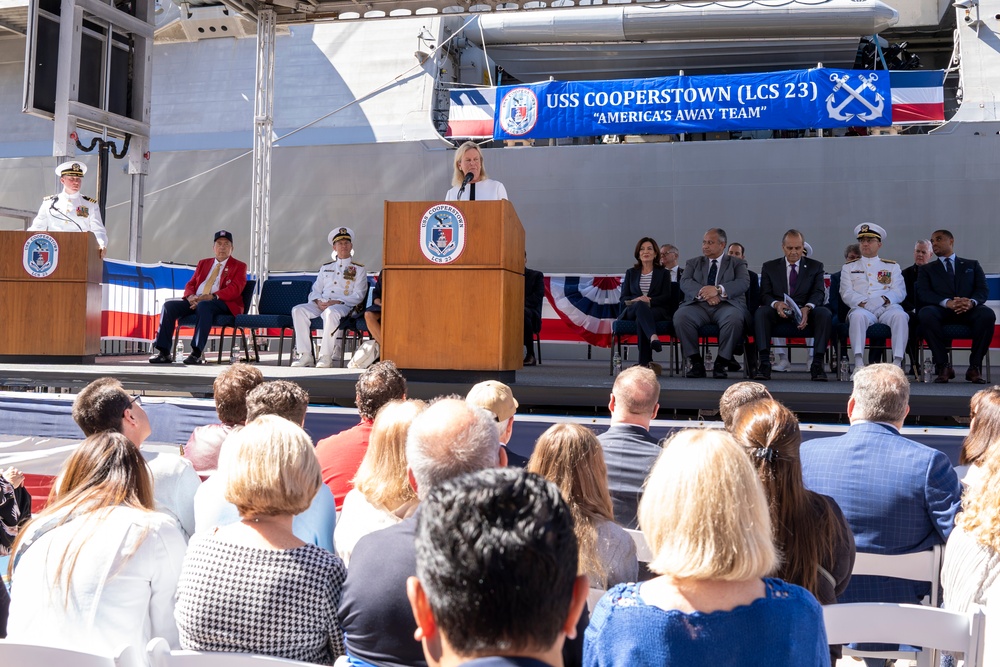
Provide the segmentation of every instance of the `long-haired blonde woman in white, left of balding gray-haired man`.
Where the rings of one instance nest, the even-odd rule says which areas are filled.
[[[393,526],[417,508],[417,493],[406,474],[406,434],[427,407],[423,401],[390,401],[375,416],[368,449],[351,480],[353,489],[334,529],[337,554],[350,565],[354,545],[365,535]]]

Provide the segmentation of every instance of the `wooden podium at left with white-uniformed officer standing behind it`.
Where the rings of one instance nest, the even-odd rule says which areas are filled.
[[[103,269],[93,234],[0,231],[0,362],[94,363]]]

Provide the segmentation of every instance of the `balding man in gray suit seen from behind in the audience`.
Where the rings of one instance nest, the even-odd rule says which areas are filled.
[[[637,528],[636,510],[642,485],[660,455],[660,445],[649,434],[649,422],[660,409],[660,382],[644,366],[622,371],[611,389],[611,427],[597,436],[608,466],[608,488],[615,523]]]

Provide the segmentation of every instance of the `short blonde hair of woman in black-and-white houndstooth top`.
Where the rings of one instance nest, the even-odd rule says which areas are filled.
[[[226,500],[240,516],[304,512],[323,483],[309,435],[283,417],[261,415],[234,437],[238,451],[226,480]]]

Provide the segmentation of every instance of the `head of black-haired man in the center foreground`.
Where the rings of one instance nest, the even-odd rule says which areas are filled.
[[[562,667],[587,582],[558,489],[516,470],[436,486],[417,520],[407,595],[431,667]]]

